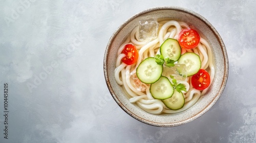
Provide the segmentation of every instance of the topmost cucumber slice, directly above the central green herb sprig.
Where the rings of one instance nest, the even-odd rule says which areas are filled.
[[[167,38],[160,46],[160,53],[165,58],[177,61],[181,55],[181,47],[176,39]]]

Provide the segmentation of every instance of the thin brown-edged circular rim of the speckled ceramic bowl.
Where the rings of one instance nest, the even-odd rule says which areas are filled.
[[[193,117],[187,118],[186,120],[183,121],[179,121],[179,122],[175,122],[175,123],[157,123],[157,122],[153,122],[153,121],[148,121],[144,118],[141,118],[139,116],[137,116],[136,114],[134,114],[133,112],[131,112],[129,109],[127,109],[124,105],[122,105],[122,103],[119,101],[119,99],[116,97],[115,92],[112,88],[112,85],[109,81],[109,74],[107,71],[107,67],[108,67],[108,55],[109,55],[109,49],[110,49],[110,45],[112,44],[112,41],[114,40],[114,38],[116,37],[116,35],[121,31],[121,29],[127,25],[127,23],[129,23],[130,21],[132,21],[133,19],[135,19],[136,17],[138,17],[139,15],[142,14],[146,14],[148,12],[152,12],[152,11],[158,11],[158,10],[176,10],[176,11],[182,11],[185,13],[188,13],[190,15],[194,15],[196,16],[198,19],[200,19],[202,22],[205,23],[205,25],[214,33],[214,35],[216,36],[216,38],[218,39],[218,42],[221,46],[221,50],[222,50],[222,54],[223,54],[223,58],[224,58],[224,75],[223,75],[223,81],[221,84],[221,87],[218,91],[218,93],[216,94],[215,98],[212,99],[212,101],[200,112],[198,112],[197,114],[195,114]],[[134,14],[133,16],[131,16],[130,18],[128,18],[127,20],[125,20],[122,25],[120,25],[117,30],[112,34],[106,49],[105,49],[105,53],[104,53],[104,59],[103,59],[103,71],[104,71],[104,77],[105,77],[105,82],[106,85],[108,86],[108,89],[113,97],[113,99],[115,100],[115,102],[121,107],[121,109],[123,109],[127,114],[131,115],[132,117],[134,117],[136,120],[145,123],[147,125],[152,125],[152,126],[157,126],[157,127],[175,127],[175,126],[179,126],[191,121],[194,121],[196,118],[200,117],[201,115],[203,115],[205,112],[207,112],[212,106],[214,106],[214,104],[218,101],[218,99],[220,98],[222,92],[225,89],[226,83],[227,83],[227,79],[228,79],[228,67],[229,63],[228,63],[228,57],[227,57],[227,52],[226,52],[226,47],[225,44],[221,38],[221,36],[219,35],[219,33],[217,32],[217,30],[214,28],[214,26],[211,25],[211,23],[204,18],[202,15],[186,9],[186,8],[182,8],[182,7],[178,7],[178,6],[162,6],[162,7],[153,7],[153,8],[148,8],[145,10],[142,10],[136,14]]]

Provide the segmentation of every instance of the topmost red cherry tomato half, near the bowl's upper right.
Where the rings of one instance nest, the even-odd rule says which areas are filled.
[[[196,30],[186,28],[180,31],[178,41],[181,47],[185,49],[192,49],[198,45],[200,36]]]

